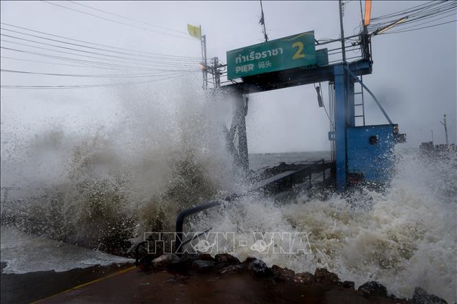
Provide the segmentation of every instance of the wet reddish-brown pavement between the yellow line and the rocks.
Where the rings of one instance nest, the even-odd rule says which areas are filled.
[[[402,303],[331,285],[277,283],[249,273],[175,274],[132,268],[38,303]]]

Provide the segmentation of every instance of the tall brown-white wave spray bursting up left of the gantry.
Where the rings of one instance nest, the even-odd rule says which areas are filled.
[[[188,81],[119,89],[107,104],[111,126],[91,111],[89,127],[50,119],[40,132],[14,113],[2,116],[1,184],[20,188],[1,205],[2,224],[116,248],[142,231],[171,231],[178,209],[233,191],[238,179],[221,136],[230,97]]]

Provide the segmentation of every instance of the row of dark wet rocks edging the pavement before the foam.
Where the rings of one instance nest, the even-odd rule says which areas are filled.
[[[151,258],[152,259],[152,258]],[[385,299],[373,299],[373,303],[413,303],[413,304],[444,304],[445,300],[434,294],[428,294],[422,288],[416,288],[412,299],[398,299],[393,294],[388,296],[387,289],[377,281],[368,281],[361,285],[355,291],[353,281],[340,281],[337,274],[329,272],[326,268],[317,268],[314,274],[310,272],[295,273],[288,268],[282,268],[274,265],[269,268],[264,261],[254,257],[248,257],[241,262],[237,257],[229,254],[218,254],[212,257],[207,253],[188,254],[177,256],[174,254],[161,255],[152,261],[149,261],[148,268],[167,269],[177,274],[176,278],[182,275],[188,277],[192,273],[205,274],[205,276],[214,275],[221,279],[221,276],[240,274],[242,277],[249,277],[249,274],[256,277],[256,280],[265,280],[269,286],[276,286],[282,290],[293,290],[303,288],[300,285],[307,285],[306,288],[311,290],[331,290],[337,294],[346,294],[349,296],[363,296],[366,299],[370,297],[382,297]],[[172,279],[176,281],[176,279]],[[285,287],[287,285],[287,287]],[[335,287],[335,288],[334,288]],[[344,291],[346,290],[346,291]],[[354,298],[355,299],[355,298]],[[370,300],[371,301],[371,300]],[[338,302],[335,302],[338,303]],[[347,302],[350,303],[350,302]]]

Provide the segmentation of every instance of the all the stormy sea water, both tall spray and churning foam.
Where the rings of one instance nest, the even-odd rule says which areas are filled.
[[[107,124],[81,110],[80,117],[93,119],[90,126],[80,117],[69,121],[65,103],[65,119],[53,113],[32,123],[2,99],[1,256],[8,250],[16,259],[10,258],[8,272],[43,269],[30,261],[26,270],[20,267],[27,261],[21,244],[38,248],[54,239],[122,254],[129,250],[124,241],[140,240],[145,231],[174,231],[180,209],[245,191],[223,135],[232,97],[197,87],[190,79],[107,92],[106,102],[97,102],[117,114]],[[424,159],[401,145],[395,156],[383,193],[363,189],[326,200],[300,194],[281,204],[253,194],[195,216],[186,231],[216,227],[249,244],[253,233],[306,233],[311,253],[258,253],[249,246],[236,253],[296,272],[325,267],[356,285],[379,281],[397,296],[410,297],[420,286],[457,301],[457,157]],[[258,169],[321,158],[329,153],[252,154],[249,162]],[[74,265],[63,262],[58,270]]]

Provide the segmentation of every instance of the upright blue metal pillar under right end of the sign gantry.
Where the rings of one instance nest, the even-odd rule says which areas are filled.
[[[346,70],[344,65],[334,68],[335,73],[335,148],[337,191],[346,187],[346,126],[348,125],[348,103],[346,102]]]

